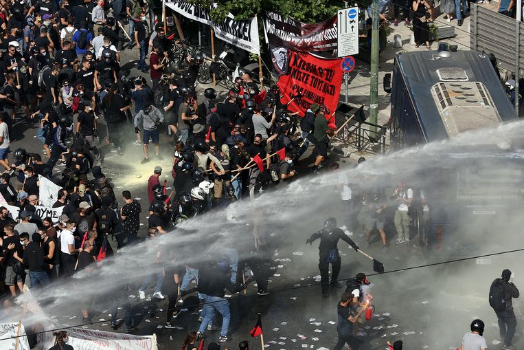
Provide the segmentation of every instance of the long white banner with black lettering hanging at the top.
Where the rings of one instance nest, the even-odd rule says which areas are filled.
[[[218,39],[240,47],[252,54],[260,55],[256,17],[236,21],[232,14],[228,14],[224,21],[217,23],[209,17],[209,9],[199,8],[187,1],[167,0],[165,4],[171,10],[182,14],[183,17],[211,25]]]

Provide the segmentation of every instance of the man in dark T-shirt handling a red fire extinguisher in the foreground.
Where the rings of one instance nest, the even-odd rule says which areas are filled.
[[[359,347],[363,343],[362,340],[354,336],[353,324],[362,316],[366,307],[362,307],[357,314],[353,314],[350,309],[351,300],[351,292],[344,292],[337,305],[337,333],[339,333],[339,340],[337,341],[337,345],[333,348],[334,350],[341,350],[346,342],[350,344],[351,349],[360,349]]]

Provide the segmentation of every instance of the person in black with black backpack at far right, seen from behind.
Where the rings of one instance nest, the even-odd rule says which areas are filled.
[[[504,340],[504,347],[511,348],[513,336],[515,335],[516,329],[516,317],[513,311],[512,298],[519,298],[520,292],[517,287],[510,282],[511,271],[505,269],[502,272],[502,278],[495,278],[490,287],[490,297],[492,296],[492,290],[499,286],[503,289],[503,307],[500,310],[495,310],[497,318],[499,319],[499,333],[501,339]],[[490,300],[490,305],[491,305]],[[492,305],[493,306],[493,305]]]

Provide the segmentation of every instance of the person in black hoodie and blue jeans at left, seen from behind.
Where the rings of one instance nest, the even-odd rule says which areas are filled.
[[[35,288],[38,284],[47,287],[50,283],[47,270],[49,270],[52,265],[49,265],[44,261],[44,252],[41,247],[41,235],[36,232],[31,238],[32,242],[27,244],[23,251],[23,264],[29,267],[31,288]]]

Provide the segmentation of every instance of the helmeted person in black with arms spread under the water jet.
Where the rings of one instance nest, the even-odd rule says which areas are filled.
[[[331,285],[339,287],[337,278],[339,278],[341,259],[339,255],[339,248],[337,247],[339,239],[352,246],[355,251],[358,251],[358,245],[346,236],[344,231],[337,227],[337,219],[328,217],[324,221],[324,228],[313,233],[311,237],[306,239],[306,244],[312,244],[316,239],[320,239],[319,245],[319,270],[322,285],[322,296],[330,295],[329,286],[329,264],[331,264]]]

